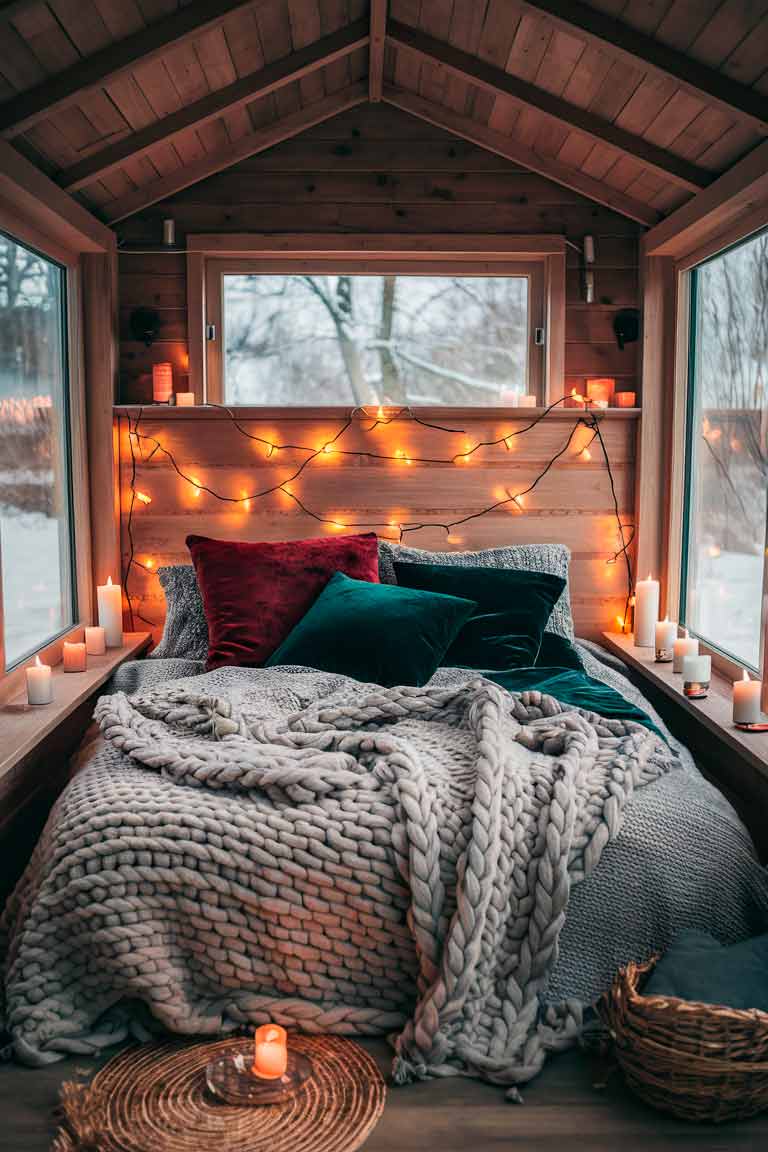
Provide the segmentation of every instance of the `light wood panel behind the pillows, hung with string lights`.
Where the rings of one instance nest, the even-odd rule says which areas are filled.
[[[137,411],[120,409],[117,415],[123,569],[130,555],[128,420],[129,417],[135,420]],[[339,418],[311,419],[306,415],[288,418],[256,412],[254,409],[243,410],[242,423],[251,434],[271,444],[306,444],[317,448],[340,426]],[[339,441],[339,447],[348,448],[352,455],[334,453],[318,457],[291,484],[291,491],[312,511],[333,518],[349,531],[374,530],[382,537],[396,539],[398,533],[393,523],[451,521],[503,499],[505,490],[523,491],[567,444],[577,419],[578,412],[570,410],[552,414],[531,432],[516,438],[511,450],[503,446],[481,449],[467,464],[413,463],[410,467],[355,453],[368,449],[391,454],[402,447],[413,456],[450,460],[478,440],[509,434],[524,426],[524,422],[519,416],[508,419],[501,415],[474,416],[464,411],[459,416],[451,415],[449,422],[450,426],[462,429],[461,433],[438,432],[408,420],[371,432],[366,431],[367,422],[356,422]],[[624,523],[632,521],[636,424],[636,414],[614,410],[602,425]],[[235,501],[287,479],[305,458],[305,454],[296,449],[280,449],[267,456],[264,445],[239,434],[220,411],[145,410],[139,432],[159,440],[190,479]],[[588,437],[588,430],[578,430],[569,452],[525,497],[524,510],[512,507],[472,520],[453,530],[449,541],[442,529],[427,528],[409,535],[409,543],[438,550],[517,543],[567,544],[573,554],[571,592],[577,629],[580,635],[596,636],[623,613],[626,586],[623,566],[606,563],[618,546],[617,525],[608,473],[599,450],[592,446],[591,460],[579,455]],[[143,445],[149,455],[152,442],[146,440]],[[221,539],[281,540],[337,535],[344,530],[318,523],[283,492],[252,500],[248,509],[242,502],[222,503],[205,491],[196,492],[160,452],[146,462],[138,462],[136,487],[151,498],[151,503],[134,505],[131,529],[138,566],[130,571],[128,588],[142,616],[154,626],[155,636],[164,619],[162,591],[155,569],[165,563],[189,563],[184,543],[188,533]]]

